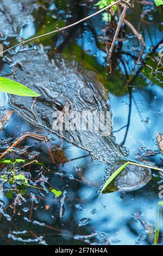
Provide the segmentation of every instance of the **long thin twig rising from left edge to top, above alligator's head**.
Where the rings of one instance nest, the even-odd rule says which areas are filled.
[[[130,0],[129,0],[129,1],[130,1]],[[17,47],[17,46],[24,45],[24,44],[26,44],[27,42],[30,42],[30,41],[33,41],[33,40],[42,38],[43,36],[46,36],[46,35],[51,35],[51,34],[54,34],[54,33],[58,33],[58,32],[64,31],[64,30],[67,29],[67,28],[71,28],[71,27],[73,27],[73,26],[76,26],[76,25],[78,25],[79,23],[82,23],[82,22],[84,22],[84,21],[86,21],[86,20],[88,20],[88,19],[90,19],[90,18],[92,18],[92,17],[94,17],[94,16],[96,16],[96,15],[98,15],[98,14],[103,13],[103,11],[105,11],[105,10],[107,10],[107,9],[109,9],[109,8],[113,7],[114,5],[116,5],[116,4],[118,4],[118,3],[121,3],[121,2],[122,2],[121,0],[118,0],[118,1],[116,1],[116,2],[114,2],[114,3],[112,3],[112,4],[110,4],[110,5],[106,6],[105,8],[103,8],[103,9],[97,11],[96,13],[91,14],[91,15],[85,17],[84,19],[79,20],[79,21],[77,21],[77,22],[74,22],[74,23],[72,23],[71,25],[68,25],[68,26],[66,26],[66,27],[57,28],[56,30],[51,31],[51,32],[48,32],[48,33],[46,33],[46,34],[39,35],[39,36],[35,36],[34,38],[30,38],[30,39],[25,40],[25,41],[21,41],[19,44],[14,45],[14,46],[8,48],[7,50],[5,50],[5,51],[3,51],[3,52],[0,52],[0,55],[3,54],[3,53],[5,53],[5,52],[8,52],[9,50],[14,49],[14,48]],[[125,9],[125,7],[124,7],[124,9]],[[126,5],[126,9],[127,9],[127,5]]]

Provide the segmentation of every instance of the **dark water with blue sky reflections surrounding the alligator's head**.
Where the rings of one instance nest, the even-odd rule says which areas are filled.
[[[23,25],[23,39],[52,31],[55,27],[68,25],[95,12],[92,1],[50,1],[39,12],[34,11],[35,22]],[[96,1],[95,1],[96,2]],[[50,9],[50,11],[47,10]],[[149,11],[149,12],[147,12]],[[142,22],[140,23],[140,15]],[[143,58],[149,53],[152,57],[145,64],[136,65],[140,44],[127,30],[125,41],[112,57],[112,65],[107,65],[106,42],[112,36],[109,25],[102,15],[73,27],[70,31],[40,39],[51,57],[61,54],[76,59],[90,70],[98,72],[101,81],[109,90],[109,103],[112,110],[112,126],[117,143],[124,143],[130,160],[150,161],[162,166],[161,154],[148,156],[147,150],[158,151],[156,133],[162,129],[162,73],[152,69],[158,65],[158,48],[162,43],[162,9],[153,5],[136,4],[129,11],[128,20],[145,38],[147,48]],[[137,70],[140,69],[140,72]],[[131,81],[129,86],[127,81]],[[1,94],[1,107],[7,106],[7,96]],[[0,138],[14,141],[24,131],[37,132],[13,113],[0,132]],[[8,141],[6,142],[8,145]],[[151,245],[154,241],[156,206],[161,175],[153,173],[153,179],[145,187],[133,192],[104,194],[99,197],[99,188],[104,181],[106,163],[93,161],[87,151],[56,137],[51,137],[51,147],[63,143],[64,153],[52,164],[45,142],[25,139],[17,146],[17,153],[8,154],[8,159],[37,159],[41,165],[30,165],[22,172],[30,173],[34,187],[19,187],[14,197],[5,194],[14,191],[11,185],[4,186],[0,194],[3,205],[0,215],[0,244],[48,244],[48,245]],[[1,150],[4,151],[4,141]],[[53,148],[52,147],[52,148]],[[56,151],[55,151],[56,152]],[[69,161],[66,161],[69,159]],[[65,164],[61,164],[63,162]],[[61,163],[60,163],[61,162]],[[48,179],[47,179],[48,178]],[[48,181],[48,183],[47,183]],[[30,183],[32,184],[32,183]],[[46,193],[48,187],[62,191],[62,196]],[[22,198],[20,196],[22,194]],[[160,244],[162,236],[160,234]]]

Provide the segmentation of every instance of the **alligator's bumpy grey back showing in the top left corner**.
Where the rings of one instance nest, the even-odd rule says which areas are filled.
[[[1,0],[0,38],[17,36],[24,23],[32,22],[34,0]]]

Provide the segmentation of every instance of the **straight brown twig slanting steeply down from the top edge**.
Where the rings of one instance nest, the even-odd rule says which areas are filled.
[[[131,0],[128,0],[127,3],[129,3],[130,1]],[[120,30],[121,30],[121,27],[122,27],[122,22],[124,21],[124,17],[126,16],[127,9],[128,9],[128,5],[125,3],[125,6],[123,8],[123,11],[122,11],[122,14],[120,16],[120,20],[118,22],[118,26],[117,26],[117,29],[116,29],[116,32],[115,32],[115,35],[114,35],[114,39],[112,40],[112,44],[111,44],[111,47],[110,47],[110,50],[109,50],[108,62],[111,59],[112,52],[113,52],[114,46],[115,46],[115,41],[117,39],[118,34],[120,33]]]

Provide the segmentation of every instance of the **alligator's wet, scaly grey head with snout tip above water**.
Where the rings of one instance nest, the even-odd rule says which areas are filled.
[[[97,74],[83,69],[76,62],[54,62],[43,50],[21,51],[9,57],[16,70],[12,79],[41,94],[36,100],[33,97],[9,95],[9,105],[30,123],[54,131],[54,123],[60,118],[60,113],[64,113],[65,106],[69,107],[70,113],[77,109],[96,109],[97,112],[110,110]],[[110,173],[115,170],[111,166],[115,167],[115,163],[120,159],[125,160],[127,155],[126,150],[115,143],[112,132],[108,136],[103,136],[100,130],[89,129],[54,132],[88,150],[99,161],[108,162]],[[135,166],[122,173],[117,185],[132,189],[146,184],[149,179],[148,169]]]

